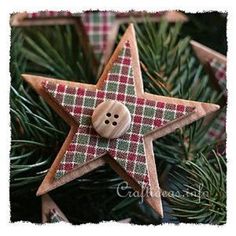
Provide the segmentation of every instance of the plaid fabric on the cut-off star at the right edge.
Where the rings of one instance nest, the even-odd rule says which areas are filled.
[[[212,59],[209,62],[212,72],[217,79],[219,86],[221,87],[222,91],[225,95],[227,95],[226,90],[226,64],[220,63],[217,59]]]

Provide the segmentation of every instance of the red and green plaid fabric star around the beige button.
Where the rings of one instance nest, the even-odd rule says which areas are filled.
[[[114,62],[103,88],[90,91],[46,82],[45,90],[77,121],[78,130],[56,173],[60,178],[75,167],[108,153],[142,188],[149,188],[143,136],[194,111],[194,107],[136,97],[127,41]],[[100,137],[92,127],[91,116],[105,100],[122,102],[130,111],[129,130],[117,139]]]

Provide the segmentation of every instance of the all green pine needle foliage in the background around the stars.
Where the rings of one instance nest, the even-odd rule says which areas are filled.
[[[148,21],[135,25],[145,90],[218,103],[222,94],[211,86],[208,75],[193,55],[190,38],[180,37],[181,27],[181,24]],[[20,75],[27,72],[95,83],[97,71],[92,66],[91,55],[83,51],[73,26],[13,28],[11,41],[11,203],[12,214],[18,214],[12,217],[19,220],[20,212],[25,211],[26,206],[22,196],[30,193],[30,199],[35,198],[33,194],[68,133],[65,122],[22,81]],[[199,181],[210,193],[209,198],[201,199],[201,204],[191,197],[167,199],[164,209],[166,214],[170,212],[167,222],[225,222],[224,157],[218,154],[212,157],[212,150],[222,140],[202,141],[210,125],[200,120],[154,142],[163,189],[185,191],[196,188],[196,181]],[[52,194],[59,205],[64,204],[65,213],[76,224],[126,217],[139,224],[161,223],[150,207],[139,204],[139,199],[119,198],[116,188],[120,183],[121,178],[104,166]],[[73,195],[76,206],[65,192]],[[31,211],[34,211],[33,206]],[[83,214],[79,215],[81,212]],[[27,216],[25,219],[32,220]]]

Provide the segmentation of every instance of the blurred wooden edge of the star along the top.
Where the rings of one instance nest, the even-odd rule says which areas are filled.
[[[113,47],[115,45],[115,40],[121,24],[130,23],[133,20],[135,22],[142,22],[144,16],[142,17],[122,17],[116,18],[113,23],[113,27],[108,35],[107,46],[104,50],[100,63],[98,62],[92,46],[89,44],[88,35],[85,32],[83,23],[81,21],[80,15],[71,15],[71,16],[58,16],[58,17],[39,17],[39,18],[27,18],[28,13],[26,11],[13,14],[10,18],[10,25],[14,27],[27,27],[27,26],[45,26],[45,25],[74,25],[78,35],[82,34],[84,39],[81,40],[82,46],[85,51],[90,52],[92,55],[92,60],[94,64],[94,71],[98,71],[98,76],[101,74],[104,65],[109,60],[109,57],[112,54]],[[188,17],[182,12],[179,11],[167,11],[162,16],[150,16],[149,20],[151,22],[159,22],[161,20],[166,20],[168,22],[187,22]],[[97,70],[97,68],[99,68]]]

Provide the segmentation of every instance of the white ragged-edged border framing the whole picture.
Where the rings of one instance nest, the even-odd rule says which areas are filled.
[[[140,1],[141,2],[141,1]],[[197,11],[227,11],[228,15],[228,64],[227,64],[227,80],[228,80],[228,116],[227,116],[227,159],[228,159],[228,179],[227,179],[227,224],[224,226],[209,226],[209,225],[194,225],[194,224],[181,224],[180,226],[172,224],[164,224],[160,226],[132,226],[129,224],[119,223],[100,223],[100,224],[86,224],[81,226],[72,226],[65,224],[54,225],[34,225],[31,223],[10,223],[9,212],[9,151],[10,151],[10,116],[9,116],[9,91],[10,91],[10,73],[9,73],[9,49],[10,49],[10,26],[9,26],[9,14],[16,11],[37,11],[37,10],[70,10],[72,12],[100,9],[100,10],[120,10],[126,11],[130,9],[134,10],[184,10],[186,12]],[[233,10],[233,1],[229,0],[214,0],[214,1],[196,1],[196,0],[165,0],[165,1],[153,1],[145,0],[142,4],[135,4],[132,0],[103,0],[103,1],[70,1],[70,0],[57,0],[57,1],[19,1],[8,0],[1,4],[0,7],[0,122],[1,122],[1,134],[0,134],[0,179],[1,179],[1,195],[0,195],[0,232],[3,231],[7,235],[42,235],[42,234],[87,234],[88,231],[96,234],[111,234],[118,232],[119,235],[135,234],[135,235],[157,235],[157,234],[171,234],[171,235],[183,235],[184,233],[191,234],[207,234],[222,235],[223,233],[230,233],[235,227],[236,209],[236,188],[235,188],[235,175],[236,175],[236,157],[233,155],[235,146],[235,103],[236,92],[234,92],[235,86],[235,68],[236,62],[236,42],[235,38],[235,25],[236,12]],[[235,52],[235,53],[233,53]],[[230,127],[230,128],[229,128]],[[32,231],[33,230],[33,231]],[[234,230],[235,231],[235,230]]]

